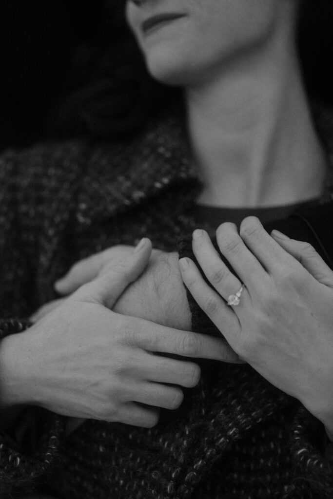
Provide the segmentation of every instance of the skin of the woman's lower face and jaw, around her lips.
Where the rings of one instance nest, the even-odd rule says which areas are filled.
[[[127,1],[127,21],[156,79],[193,85],[263,43],[279,24],[285,0]],[[284,5],[285,6],[285,5]],[[142,22],[165,12],[184,17],[144,32]]]

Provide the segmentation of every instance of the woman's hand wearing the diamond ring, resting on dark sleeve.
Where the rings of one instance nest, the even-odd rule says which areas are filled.
[[[218,228],[236,277],[207,233],[195,231],[193,251],[214,289],[189,258],[180,260],[183,280],[235,352],[332,432],[333,272],[307,243],[272,236],[254,217],[240,234],[234,224]],[[243,284],[239,304],[228,306]]]

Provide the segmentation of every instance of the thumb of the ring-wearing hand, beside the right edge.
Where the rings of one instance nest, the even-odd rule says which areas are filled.
[[[333,287],[333,272],[310,243],[290,239],[279,231],[272,238],[289,254],[294,256],[322,284]]]

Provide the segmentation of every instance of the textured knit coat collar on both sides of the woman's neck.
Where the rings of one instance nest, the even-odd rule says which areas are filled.
[[[330,201],[333,109],[316,105],[313,113],[327,152],[328,172],[322,201]],[[94,147],[81,183],[76,218],[82,227],[134,208],[167,189],[181,190],[181,199],[185,196],[187,201],[193,201],[202,184],[191,165],[182,113],[174,110],[162,115],[134,140]]]

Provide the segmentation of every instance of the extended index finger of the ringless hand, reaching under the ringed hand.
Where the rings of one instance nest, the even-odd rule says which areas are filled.
[[[144,319],[140,319],[140,326],[136,323],[136,328],[132,329],[135,331],[131,333],[130,343],[132,346],[139,346],[149,352],[169,353],[181,357],[211,359],[221,362],[242,362],[222,338],[173,329]]]

